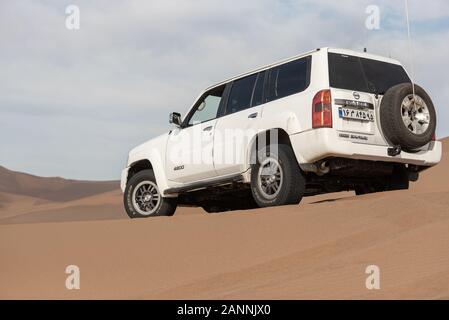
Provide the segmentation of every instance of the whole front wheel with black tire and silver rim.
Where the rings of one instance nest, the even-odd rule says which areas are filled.
[[[162,197],[153,170],[143,170],[131,177],[123,200],[126,213],[132,219],[172,216],[177,205],[176,198]]]

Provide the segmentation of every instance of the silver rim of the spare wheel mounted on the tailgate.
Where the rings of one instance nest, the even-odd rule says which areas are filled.
[[[413,94],[404,98],[401,105],[402,121],[412,133],[420,135],[427,131],[430,125],[430,113],[424,100]]]

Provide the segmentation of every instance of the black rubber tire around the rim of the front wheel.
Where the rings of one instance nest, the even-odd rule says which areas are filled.
[[[156,185],[156,178],[154,177],[153,170],[140,171],[132,176],[131,179],[129,179],[128,184],[126,185],[125,193],[123,195],[123,202],[128,216],[131,219],[148,218],[155,216],[172,216],[176,211],[178,201],[177,198],[164,198],[159,194],[160,201],[157,203],[157,205],[155,205],[154,212],[151,214],[142,214],[142,208],[135,207],[135,201],[133,201],[134,190],[137,186],[139,186],[140,183],[148,181],[151,181]]]

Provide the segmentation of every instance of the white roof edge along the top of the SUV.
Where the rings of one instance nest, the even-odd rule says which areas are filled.
[[[397,60],[394,60],[394,59],[391,59],[391,58],[386,58],[386,57],[383,57],[383,56],[380,56],[380,55],[375,55],[375,54],[367,53],[367,52],[359,52],[359,51],[354,51],[354,50],[350,50],[350,49],[341,49],[341,48],[323,47],[323,48],[318,48],[318,49],[315,49],[315,50],[312,50],[312,51],[304,52],[304,53],[295,55],[295,56],[290,57],[290,58],[287,58],[287,59],[282,59],[282,60],[279,60],[279,61],[277,61],[277,62],[274,62],[274,63],[270,63],[270,64],[268,64],[268,65],[265,65],[265,66],[263,66],[263,67],[259,67],[259,68],[253,69],[253,70],[251,70],[251,71],[242,73],[242,74],[240,74],[240,75],[237,75],[237,76],[228,78],[228,79],[226,79],[226,80],[224,80],[224,81],[221,81],[221,82],[219,82],[219,83],[216,83],[216,84],[214,84],[214,85],[212,85],[212,86],[206,88],[206,89],[204,90],[204,92],[205,92],[205,91],[208,91],[208,90],[210,90],[210,89],[213,89],[213,88],[215,88],[215,87],[218,87],[218,86],[220,86],[220,85],[222,85],[222,84],[231,82],[231,81],[233,81],[233,80],[236,80],[236,79],[239,79],[239,78],[243,78],[243,77],[248,76],[248,75],[251,75],[251,74],[253,74],[253,73],[257,73],[257,72],[260,72],[260,71],[263,71],[263,70],[272,68],[272,67],[274,67],[274,66],[281,65],[281,64],[283,64],[283,63],[287,63],[287,62],[289,62],[289,61],[293,61],[293,60],[296,60],[296,59],[299,59],[299,58],[302,58],[302,57],[305,57],[305,56],[314,54],[314,53],[319,52],[319,51],[321,51],[321,50],[327,51],[327,52],[333,52],[333,53],[340,53],[340,54],[346,54],[346,55],[351,55],[351,56],[357,56],[357,57],[362,57],[362,58],[366,58],[366,59],[379,60],[379,61],[383,61],[383,62],[387,62],[387,63],[392,63],[392,64],[399,64],[399,65],[401,64],[401,63],[400,63],[399,61],[397,61]]]

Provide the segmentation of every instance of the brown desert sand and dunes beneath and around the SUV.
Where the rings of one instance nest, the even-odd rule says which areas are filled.
[[[449,299],[448,181],[445,152],[407,191],[130,220],[117,182],[0,168],[0,298]]]

